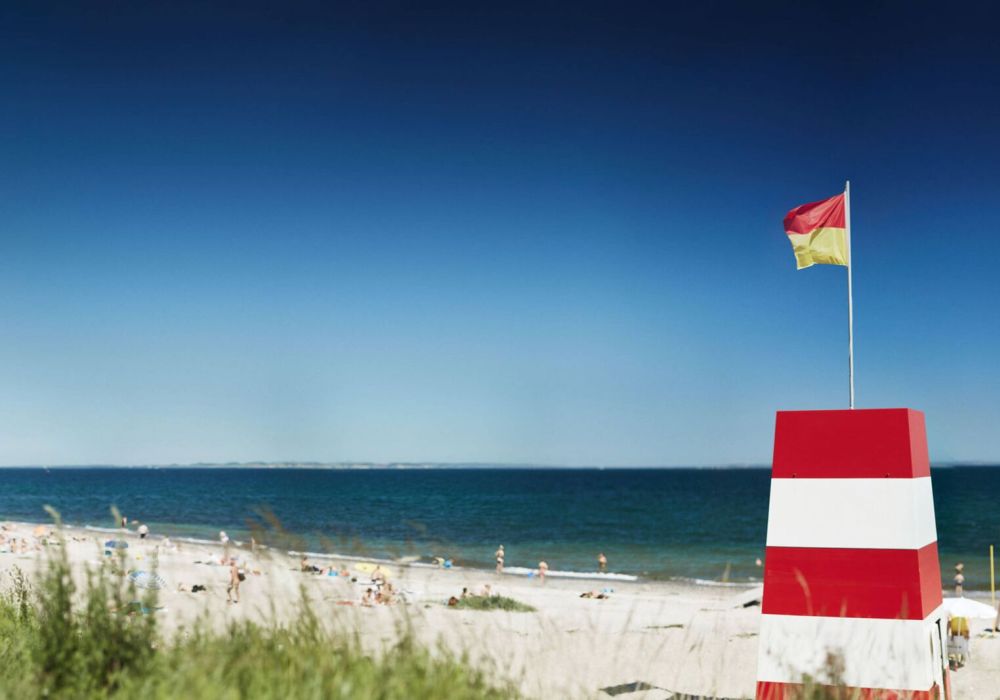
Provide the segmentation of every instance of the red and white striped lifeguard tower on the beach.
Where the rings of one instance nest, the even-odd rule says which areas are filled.
[[[922,413],[778,412],[761,612],[757,700],[950,700]]]

